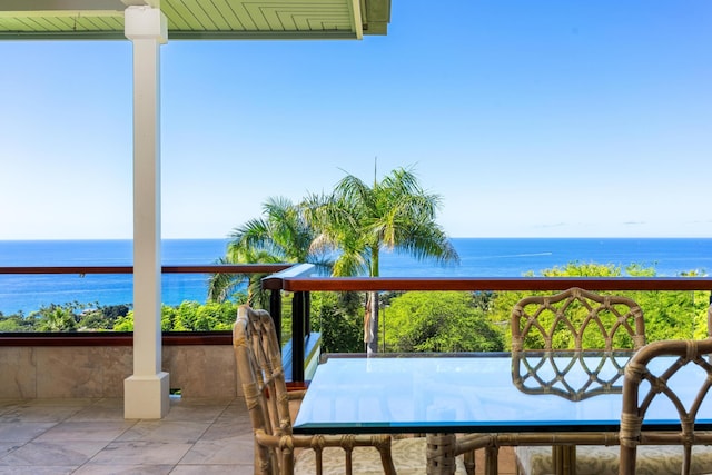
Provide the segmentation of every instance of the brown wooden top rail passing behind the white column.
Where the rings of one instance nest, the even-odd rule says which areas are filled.
[[[164,274],[273,274],[294,264],[209,264],[200,266],[161,266]],[[134,266],[52,266],[0,267],[0,274],[134,274]]]

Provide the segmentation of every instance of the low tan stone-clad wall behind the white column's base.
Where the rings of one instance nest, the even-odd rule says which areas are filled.
[[[162,369],[181,397],[241,396],[231,345],[164,345]],[[131,346],[0,347],[0,398],[123,397]]]

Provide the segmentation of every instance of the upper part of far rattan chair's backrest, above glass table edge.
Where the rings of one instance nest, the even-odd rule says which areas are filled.
[[[520,300],[512,309],[512,350],[637,349],[643,310],[632,299],[577,287]]]

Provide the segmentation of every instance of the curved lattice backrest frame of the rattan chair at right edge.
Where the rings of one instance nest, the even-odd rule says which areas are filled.
[[[712,338],[704,340],[662,340],[640,349],[625,366],[621,410],[621,475],[635,474],[640,444],[674,444],[683,447],[682,474],[689,474],[693,445],[712,444],[711,432],[695,432],[701,410],[711,417]],[[665,359],[663,359],[665,357]],[[683,373],[688,372],[683,376]],[[681,392],[684,382],[686,390]],[[690,382],[693,382],[692,385]],[[661,402],[660,399],[668,399]],[[649,409],[665,403],[680,417],[680,431],[647,432],[642,424]],[[705,467],[709,469],[710,467]]]

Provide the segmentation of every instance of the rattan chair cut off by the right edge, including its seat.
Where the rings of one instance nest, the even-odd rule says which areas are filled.
[[[694,428],[701,407],[704,407],[706,417],[712,412],[711,355],[712,338],[654,342],[637,352],[626,365],[621,410],[620,475],[712,473],[712,448],[706,446],[712,444],[712,432]],[[663,357],[672,358],[663,360]],[[683,372],[692,372],[686,375],[688,379],[692,376],[699,382],[699,386],[693,386],[695,390],[684,395],[678,385]],[[652,413],[653,407],[661,403],[678,410],[681,431],[642,431],[649,410]],[[647,444],[654,444],[656,453],[673,451],[670,456],[657,457],[663,462],[657,461],[650,466],[649,457],[637,456]]]

